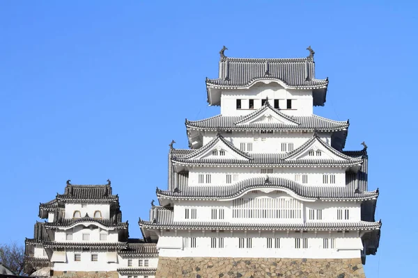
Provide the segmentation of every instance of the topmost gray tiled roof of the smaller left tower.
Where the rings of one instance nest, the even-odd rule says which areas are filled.
[[[118,195],[111,195],[111,186],[109,185],[68,185],[65,186],[65,193],[57,194],[56,199],[117,200]]]

